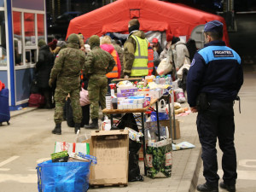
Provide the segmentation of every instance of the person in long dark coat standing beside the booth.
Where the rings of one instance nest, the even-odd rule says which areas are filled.
[[[44,39],[38,41],[39,54],[36,64],[36,73],[38,80],[38,88],[45,98],[44,108],[52,108],[52,91],[49,87],[49,74],[54,65],[54,55],[50,52],[49,46]]]

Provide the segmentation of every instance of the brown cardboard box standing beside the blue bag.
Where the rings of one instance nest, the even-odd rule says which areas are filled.
[[[90,167],[90,185],[127,185],[129,136],[127,130],[91,131],[91,155],[96,166]]]

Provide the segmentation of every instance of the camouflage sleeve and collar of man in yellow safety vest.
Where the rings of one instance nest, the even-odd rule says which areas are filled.
[[[129,35],[129,37],[127,38],[127,40],[125,41],[124,44],[124,70],[123,73],[124,75],[131,75],[131,68],[133,65],[133,61],[135,59],[134,53],[136,51],[136,41],[134,40],[134,38],[131,38],[131,35],[135,35],[139,38],[146,38],[145,33],[142,31],[134,31],[131,32],[131,34]]]

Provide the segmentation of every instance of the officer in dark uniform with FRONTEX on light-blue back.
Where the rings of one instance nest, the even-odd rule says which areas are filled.
[[[223,151],[223,180],[219,186],[236,191],[236,149],[234,146],[233,104],[243,84],[241,58],[226,47],[223,24],[212,20],[205,25],[205,47],[195,53],[187,77],[188,102],[197,115],[197,131],[202,147],[203,175],[207,182],[198,191],[218,191],[218,162],[215,148],[218,137]]]

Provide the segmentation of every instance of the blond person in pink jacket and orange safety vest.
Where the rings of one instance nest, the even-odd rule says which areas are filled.
[[[119,79],[121,75],[121,64],[119,60],[119,55],[117,51],[113,48],[113,45],[111,44],[111,38],[108,35],[104,36],[101,39],[100,47],[110,53],[110,55],[113,56],[113,60],[115,61],[115,66],[113,67],[112,72],[107,73],[106,76],[108,77],[108,79]]]

